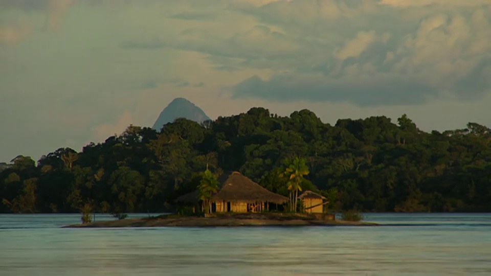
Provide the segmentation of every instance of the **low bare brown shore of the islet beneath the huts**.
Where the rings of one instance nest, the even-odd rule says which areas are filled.
[[[364,221],[323,220],[304,214],[219,214],[212,217],[162,215],[148,218],[133,218],[111,221],[96,221],[86,224],[72,224],[65,228],[105,227],[217,227],[217,226],[376,226],[377,223]]]

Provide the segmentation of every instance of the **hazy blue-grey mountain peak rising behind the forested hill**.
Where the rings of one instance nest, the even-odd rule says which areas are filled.
[[[197,123],[210,120],[203,109],[185,98],[175,98],[160,112],[159,118],[153,124],[153,129],[160,131],[162,126],[174,122],[177,118],[185,118]]]

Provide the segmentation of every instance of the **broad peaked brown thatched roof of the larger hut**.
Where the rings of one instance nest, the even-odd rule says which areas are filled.
[[[213,195],[212,200],[224,201],[245,201],[245,202],[272,202],[284,203],[288,201],[287,197],[275,194],[250,178],[240,174],[239,172],[229,172],[222,174],[218,181],[221,183],[221,188]],[[194,191],[178,197],[176,202],[195,203],[199,201],[198,191]]]

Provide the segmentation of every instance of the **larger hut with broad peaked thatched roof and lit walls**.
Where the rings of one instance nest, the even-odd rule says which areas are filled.
[[[283,204],[287,197],[275,194],[239,172],[224,173],[218,181],[221,187],[211,198],[211,212],[256,213],[269,210],[271,204]],[[199,192],[178,197],[175,202],[198,205]]]

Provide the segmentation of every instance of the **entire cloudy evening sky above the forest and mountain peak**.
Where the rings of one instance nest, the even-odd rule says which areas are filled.
[[[491,126],[489,0],[0,0],[0,162],[210,118]]]

